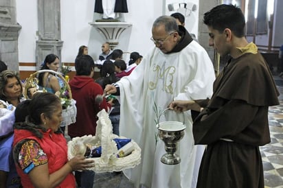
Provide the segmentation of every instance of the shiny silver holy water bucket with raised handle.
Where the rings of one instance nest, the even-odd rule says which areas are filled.
[[[170,108],[163,110],[161,115]],[[160,116],[161,116],[160,115]],[[161,156],[161,162],[166,165],[177,165],[181,163],[181,158],[175,152],[178,149],[178,143],[185,134],[185,117],[184,121],[163,121],[159,122],[160,116],[157,120],[158,136],[165,143],[166,154]]]

